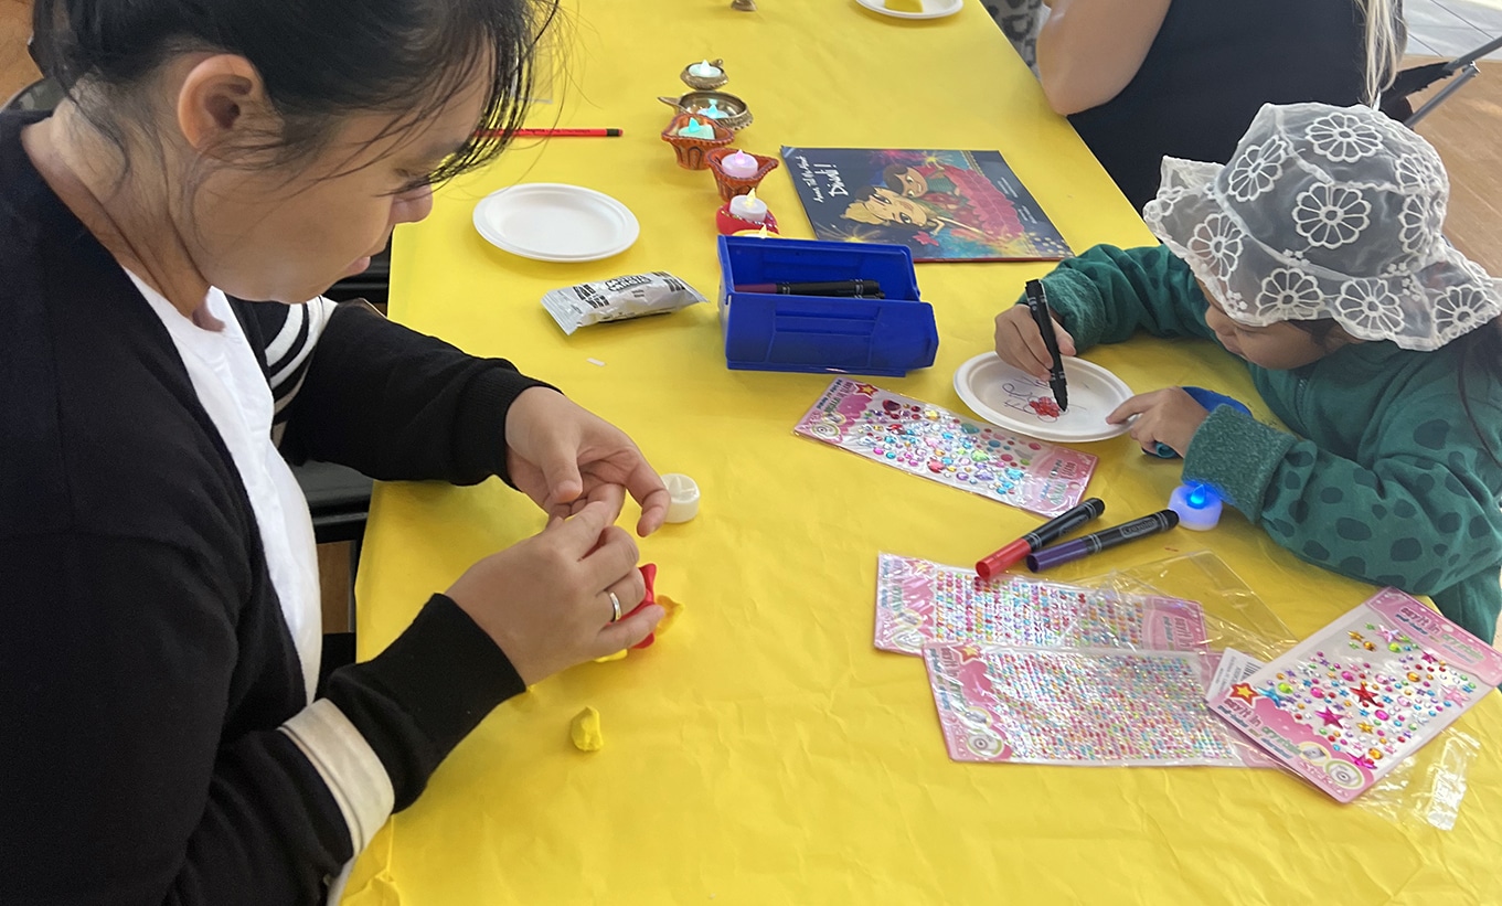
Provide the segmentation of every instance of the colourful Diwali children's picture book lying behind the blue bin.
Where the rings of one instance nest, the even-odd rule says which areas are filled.
[[[1069,245],[999,152],[783,147],[819,239],[915,261],[1057,261]]]

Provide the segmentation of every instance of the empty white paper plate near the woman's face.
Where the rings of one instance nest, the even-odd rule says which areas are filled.
[[[556,182],[485,195],[475,206],[475,228],[496,248],[538,261],[598,261],[626,251],[641,233],[620,201]]]

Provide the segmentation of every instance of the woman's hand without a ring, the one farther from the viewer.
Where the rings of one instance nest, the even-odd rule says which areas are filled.
[[[637,445],[548,388],[523,391],[506,412],[506,470],[550,517],[580,512],[610,487],[641,505],[637,535],[656,532],[667,515],[667,488]]]

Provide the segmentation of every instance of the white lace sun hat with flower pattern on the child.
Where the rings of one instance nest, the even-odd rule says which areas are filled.
[[[1142,216],[1242,325],[1434,350],[1502,313],[1502,281],[1440,233],[1448,200],[1433,146],[1380,111],[1268,104],[1230,164],[1164,158]]]

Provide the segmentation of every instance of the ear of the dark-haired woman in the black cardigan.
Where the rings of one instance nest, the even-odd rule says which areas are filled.
[[[267,128],[266,84],[242,56],[213,54],[192,65],[177,90],[177,128],[204,155],[233,147],[237,135]]]

